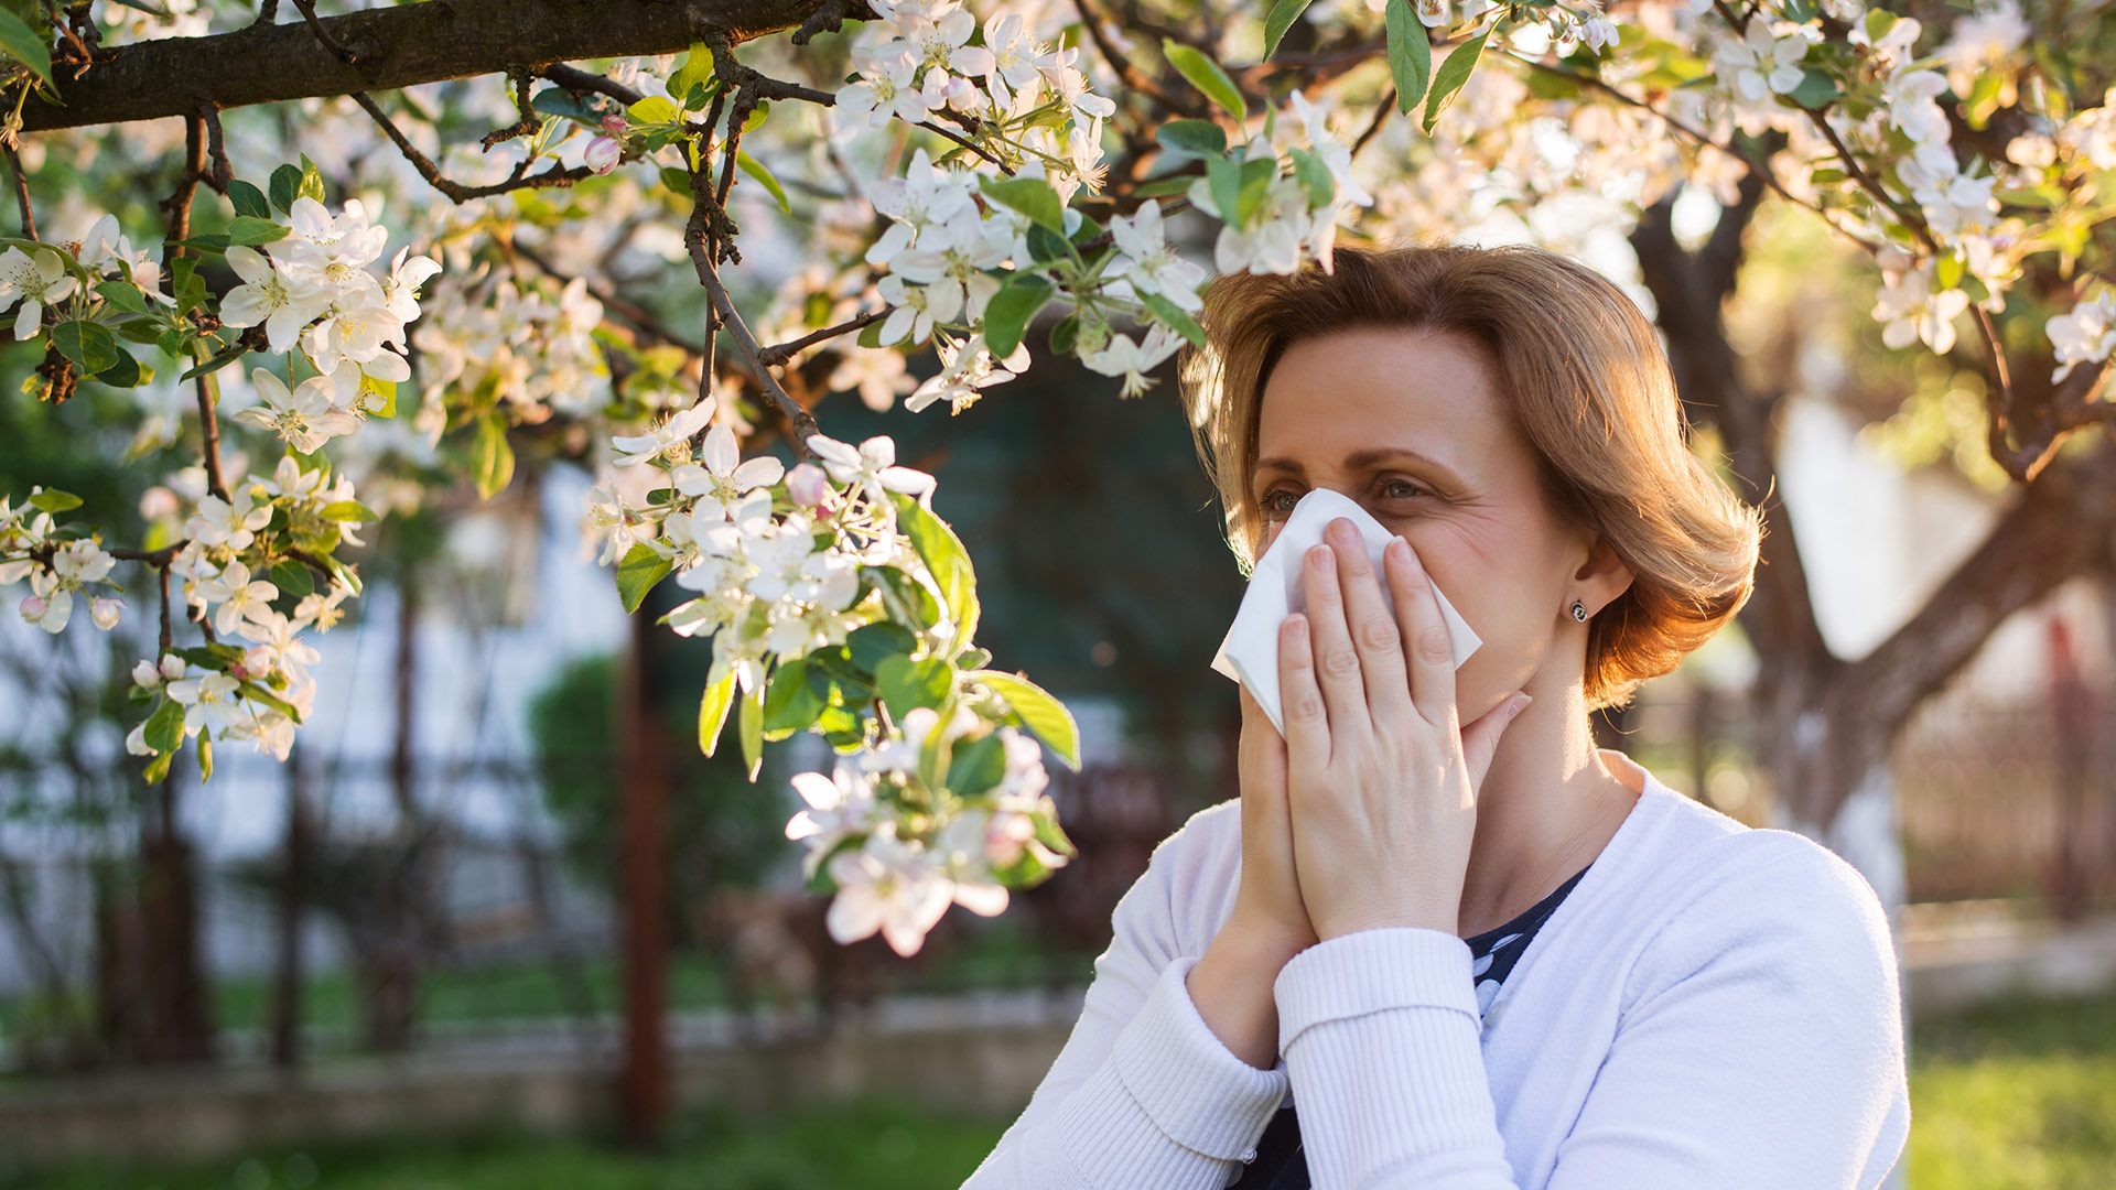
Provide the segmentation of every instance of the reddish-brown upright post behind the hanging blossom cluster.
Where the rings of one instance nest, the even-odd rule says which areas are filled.
[[[624,1076],[618,1120],[633,1148],[660,1143],[669,1116],[667,1016],[667,872],[664,834],[669,764],[656,722],[654,601],[633,612],[631,663],[618,699],[624,741],[622,779],[624,845]]]

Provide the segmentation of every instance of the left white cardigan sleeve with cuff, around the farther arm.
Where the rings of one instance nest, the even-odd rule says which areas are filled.
[[[1071,1038],[963,1190],[1219,1190],[1255,1156],[1287,1071],[1238,1059],[1189,997],[1176,898],[1202,879],[1200,841],[1179,843],[1196,826],[1117,900]]]

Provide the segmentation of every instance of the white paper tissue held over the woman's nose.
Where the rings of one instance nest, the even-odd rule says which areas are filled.
[[[1308,606],[1301,559],[1314,544],[1322,542],[1322,529],[1337,517],[1350,517],[1358,525],[1358,536],[1367,542],[1367,557],[1382,589],[1382,606],[1390,612],[1397,610],[1397,597],[1386,582],[1388,572],[1382,567],[1382,551],[1397,534],[1390,534],[1350,495],[1318,487],[1301,495],[1272,540],[1272,548],[1257,559],[1248,593],[1242,595],[1242,608],[1234,614],[1234,627],[1227,629],[1227,639],[1219,642],[1219,654],[1212,656],[1212,669],[1248,686],[1248,695],[1257,699],[1280,735],[1284,735],[1287,724],[1278,714],[1278,625]],[[1447,595],[1441,595],[1439,584],[1433,584],[1433,595],[1439,597],[1441,618],[1447,620],[1447,635],[1454,642],[1454,663],[1460,669],[1483,642],[1454,610]]]

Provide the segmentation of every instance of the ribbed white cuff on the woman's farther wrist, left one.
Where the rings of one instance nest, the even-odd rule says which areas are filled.
[[[1181,955],[1117,1033],[1113,1065],[1168,1139],[1219,1160],[1240,1160],[1287,1097],[1284,1061],[1257,1069],[1234,1057],[1189,997],[1198,955]]]

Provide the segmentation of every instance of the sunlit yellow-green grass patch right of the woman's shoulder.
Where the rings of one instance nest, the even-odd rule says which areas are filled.
[[[1915,1190],[2116,1186],[2116,993],[1919,1023],[1909,1162]]]

